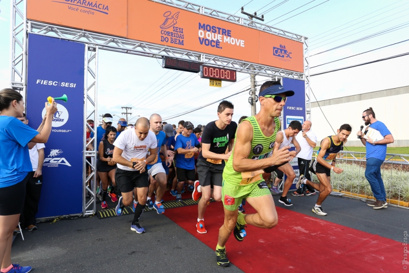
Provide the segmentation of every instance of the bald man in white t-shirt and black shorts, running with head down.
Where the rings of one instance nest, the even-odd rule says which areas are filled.
[[[149,186],[149,175],[146,164],[156,158],[156,136],[149,131],[150,124],[147,118],[139,118],[135,128],[128,129],[113,142],[113,161],[117,162],[115,173],[116,184],[122,193],[115,212],[122,215],[124,206],[132,203],[133,188],[136,188],[138,205],[131,223],[131,230],[139,234],[145,229],[139,224],[145,204]],[[146,157],[148,151],[150,155]]]

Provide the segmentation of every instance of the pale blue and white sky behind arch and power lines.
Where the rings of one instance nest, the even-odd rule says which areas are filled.
[[[10,86],[10,2],[0,0],[0,89]],[[248,13],[257,11],[257,14],[261,15],[279,5],[264,14],[264,23],[272,20],[267,24],[308,37],[311,67],[409,39],[407,19],[409,0],[192,0],[192,2],[223,12],[232,14],[237,12],[236,15],[240,15],[239,10],[242,6]],[[300,12],[302,13],[298,14]],[[401,29],[321,53],[400,25]],[[310,74],[406,52],[409,52],[409,41],[312,68]],[[314,55],[316,53],[320,54]],[[316,99],[324,100],[408,86],[408,72],[409,55],[312,76],[310,82]],[[235,83],[223,81],[222,88],[209,87],[209,80],[201,79],[198,74],[162,68],[161,60],[101,50],[98,114],[115,114],[114,120],[117,120],[119,117],[125,117],[121,114],[124,112],[121,107],[132,107],[129,110],[132,113],[129,117],[130,123],[138,116],[149,118],[151,114],[158,113],[164,120],[173,124],[177,124],[181,119],[189,120],[194,125],[207,124],[217,119],[218,102],[180,117],[174,116],[249,88],[248,74],[238,73],[237,78]],[[266,79],[256,76],[258,83]],[[238,121],[241,116],[251,114],[248,97],[246,91],[228,98],[235,106],[233,120]],[[311,101],[315,101],[313,96]],[[260,106],[257,105],[257,110],[259,109]]]

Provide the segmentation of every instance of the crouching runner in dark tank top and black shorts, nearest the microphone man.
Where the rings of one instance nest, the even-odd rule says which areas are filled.
[[[299,188],[301,184],[307,184],[314,188],[314,190],[319,191],[320,195],[316,201],[316,204],[312,208],[312,212],[317,215],[327,215],[321,204],[324,202],[325,198],[332,192],[332,187],[330,184],[331,170],[336,174],[342,173],[344,170],[335,167],[336,155],[342,150],[343,145],[347,142],[348,136],[351,134],[351,126],[349,124],[342,125],[335,136],[329,136],[321,141],[320,150],[316,160],[312,163],[310,169],[311,172],[315,173],[320,183],[313,183],[304,174],[300,174],[300,178],[297,182],[296,187]]]

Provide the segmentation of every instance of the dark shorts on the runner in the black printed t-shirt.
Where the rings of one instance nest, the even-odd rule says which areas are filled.
[[[223,182],[224,164],[213,164],[205,160],[197,160],[197,175],[200,186],[221,186]]]

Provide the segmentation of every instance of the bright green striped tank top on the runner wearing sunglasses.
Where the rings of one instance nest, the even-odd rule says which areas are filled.
[[[263,132],[260,129],[259,123],[257,122],[257,119],[254,116],[248,117],[244,120],[248,120],[253,126],[252,150],[250,151],[250,154],[248,155],[247,158],[258,160],[269,157],[272,153],[274,142],[276,141],[277,132],[280,129],[280,120],[277,117],[274,118],[276,128],[274,130],[274,133],[270,137],[266,137],[263,134]],[[234,144],[236,144],[236,139],[237,137],[234,140]],[[230,158],[224,167],[223,180],[227,183],[231,183],[236,186],[247,185],[248,183],[261,181],[263,179],[261,176],[261,173],[263,172],[262,170],[261,172],[241,173],[236,172],[233,169],[233,155],[235,146],[236,145],[233,146],[232,154],[230,155]]]

